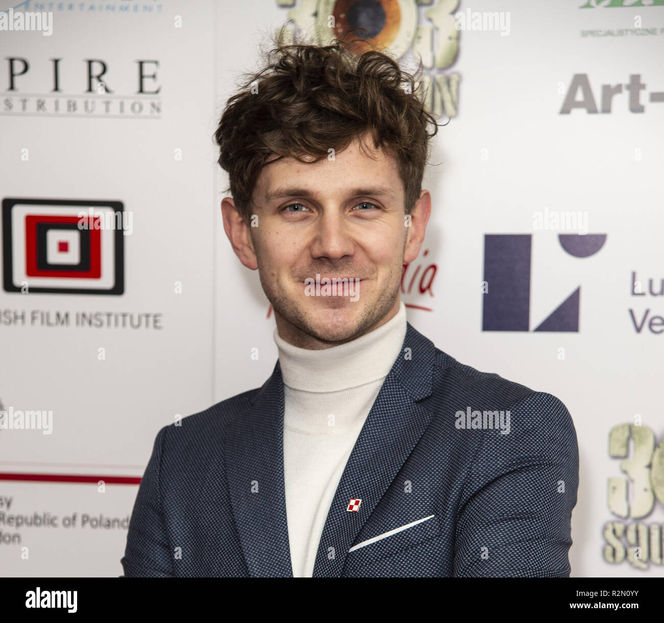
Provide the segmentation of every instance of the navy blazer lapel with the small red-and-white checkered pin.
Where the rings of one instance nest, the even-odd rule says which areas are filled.
[[[410,323],[406,339],[355,442],[319,541],[313,577],[341,577],[348,550],[429,426],[417,404],[432,393],[436,348]],[[410,357],[410,359],[408,359]],[[362,500],[357,512],[349,500]]]

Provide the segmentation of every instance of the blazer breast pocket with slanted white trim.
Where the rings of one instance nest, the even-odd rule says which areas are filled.
[[[400,525],[385,533],[380,533],[369,539],[363,539],[353,544],[349,550],[346,564],[349,566],[359,563],[364,565],[395,553],[408,550],[420,545],[424,541],[440,535],[440,525],[436,515],[429,515],[412,522]]]

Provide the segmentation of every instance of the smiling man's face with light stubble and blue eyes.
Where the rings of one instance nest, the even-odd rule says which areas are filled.
[[[396,161],[370,144],[363,151],[356,140],[317,163],[276,160],[254,187],[258,226],[250,228],[250,246],[279,333],[295,345],[349,341],[398,311],[410,237],[404,187]],[[421,241],[416,246],[415,256]],[[315,284],[317,275],[359,280],[355,296],[341,288],[345,296],[315,296],[306,280]]]

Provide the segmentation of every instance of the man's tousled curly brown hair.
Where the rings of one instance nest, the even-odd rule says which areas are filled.
[[[327,46],[286,44],[266,54],[226,102],[214,139],[218,163],[246,222],[264,165],[281,157],[316,162],[370,132],[374,147],[396,159],[406,213],[422,191],[429,139],[438,132],[424,107],[420,74],[377,50],[353,54],[354,41]],[[433,130],[429,132],[428,127]],[[274,156],[277,157],[274,157]]]

